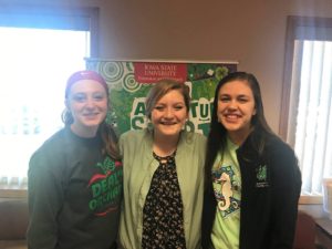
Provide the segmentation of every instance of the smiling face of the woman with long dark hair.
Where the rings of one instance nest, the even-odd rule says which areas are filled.
[[[220,87],[217,116],[234,143],[241,144],[246,139],[253,115],[255,98],[247,81],[235,80]]]

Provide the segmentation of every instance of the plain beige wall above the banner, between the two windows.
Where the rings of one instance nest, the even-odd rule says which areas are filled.
[[[29,2],[32,0],[0,0]],[[332,18],[332,0],[34,0],[101,8],[100,56],[239,61],[261,83],[278,132],[287,15]],[[55,2],[55,3],[52,3]]]

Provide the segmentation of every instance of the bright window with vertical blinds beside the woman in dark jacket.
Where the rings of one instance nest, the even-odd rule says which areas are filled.
[[[302,195],[332,177],[332,19],[289,17],[280,134],[294,147]]]

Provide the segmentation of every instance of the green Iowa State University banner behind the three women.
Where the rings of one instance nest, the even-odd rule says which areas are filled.
[[[110,87],[111,112],[107,122],[118,134],[148,125],[145,117],[145,97],[162,79],[185,82],[190,89],[191,104],[187,131],[208,134],[212,101],[217,83],[237,63],[187,62],[126,62],[87,59],[86,68],[100,72]]]

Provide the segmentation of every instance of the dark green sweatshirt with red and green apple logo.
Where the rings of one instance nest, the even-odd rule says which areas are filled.
[[[110,249],[117,237],[122,164],[101,154],[100,137],[65,127],[29,165],[29,249]]]

